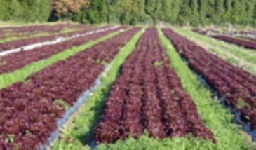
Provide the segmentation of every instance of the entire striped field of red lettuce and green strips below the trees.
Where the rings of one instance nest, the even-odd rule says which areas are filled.
[[[255,149],[256,31],[0,27],[0,150]]]

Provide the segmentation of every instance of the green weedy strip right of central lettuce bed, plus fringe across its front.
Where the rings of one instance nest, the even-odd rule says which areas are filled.
[[[210,90],[197,79],[197,76],[187,67],[186,62],[171,45],[170,41],[163,34],[159,34],[163,46],[166,47],[170,57],[170,65],[176,71],[182,81],[182,86],[191,95],[196,103],[198,113],[203,123],[215,134],[217,144],[208,140],[194,138],[192,135],[185,137],[166,138],[161,141],[149,138],[147,132],[139,139],[128,138],[125,141],[119,140],[115,144],[101,144],[97,150],[166,150],[166,149],[220,149],[220,150],[248,150],[252,149],[252,143],[243,136],[241,128],[238,127],[231,117],[228,109],[222,107],[218,100],[212,97]]]

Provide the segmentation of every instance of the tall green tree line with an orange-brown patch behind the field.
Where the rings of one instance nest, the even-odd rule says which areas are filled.
[[[0,20],[256,25],[256,0],[0,0]]]

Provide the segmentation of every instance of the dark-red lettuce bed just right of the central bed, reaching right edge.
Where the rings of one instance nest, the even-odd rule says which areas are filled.
[[[189,67],[201,75],[212,88],[217,90],[224,102],[238,110],[243,121],[256,128],[256,77],[239,69],[217,55],[208,53],[201,46],[173,32],[162,29],[173,42],[180,55],[188,60]]]

